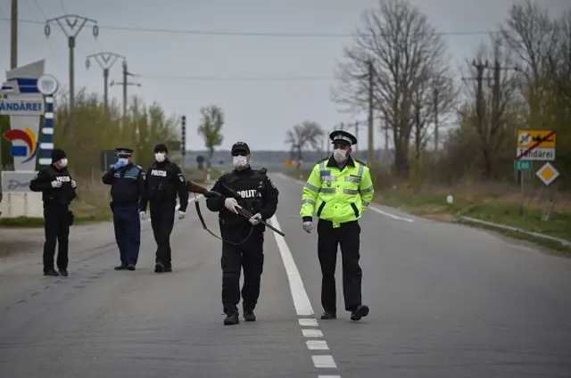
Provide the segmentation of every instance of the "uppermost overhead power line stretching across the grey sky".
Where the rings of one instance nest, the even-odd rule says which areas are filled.
[[[10,21],[7,18],[0,18],[0,21]],[[19,20],[21,23],[45,25],[46,21],[37,20]],[[101,25],[99,29],[109,29],[117,31],[132,31],[146,33],[167,33],[167,34],[186,34],[186,35],[202,35],[202,36],[232,36],[232,37],[326,37],[326,38],[346,38],[357,37],[358,34],[344,33],[277,33],[277,32],[243,32],[243,31],[216,31],[216,30],[200,30],[200,29],[160,29],[160,28],[140,28],[127,26]],[[481,31],[447,31],[435,33],[439,36],[463,37],[463,36],[487,36],[493,33],[491,30]],[[367,34],[361,35],[368,37]]]

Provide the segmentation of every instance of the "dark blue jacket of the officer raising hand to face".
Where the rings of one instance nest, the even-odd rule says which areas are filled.
[[[145,193],[145,170],[129,163],[117,170],[109,169],[102,177],[103,184],[111,186],[112,205],[136,204]]]

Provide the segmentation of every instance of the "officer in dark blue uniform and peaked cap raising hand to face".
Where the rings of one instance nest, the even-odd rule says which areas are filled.
[[[135,270],[141,246],[139,206],[145,193],[145,170],[133,164],[133,150],[116,149],[119,160],[102,177],[111,186],[113,226],[120,252],[120,266],[115,270]]]

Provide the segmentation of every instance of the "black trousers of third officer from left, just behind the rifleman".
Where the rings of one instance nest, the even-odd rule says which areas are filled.
[[[161,262],[164,267],[171,267],[172,264],[170,234],[175,225],[175,206],[174,202],[151,202],[151,227],[157,243],[155,262]]]

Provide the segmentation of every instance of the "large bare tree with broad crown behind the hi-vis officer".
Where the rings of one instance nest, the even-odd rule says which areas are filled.
[[[409,177],[415,86],[443,69],[446,45],[426,15],[407,0],[379,0],[378,7],[363,12],[361,18],[358,36],[344,49],[345,62],[338,64],[332,99],[348,111],[365,110],[368,62],[373,62],[374,103],[393,130],[394,168],[399,176]]]

